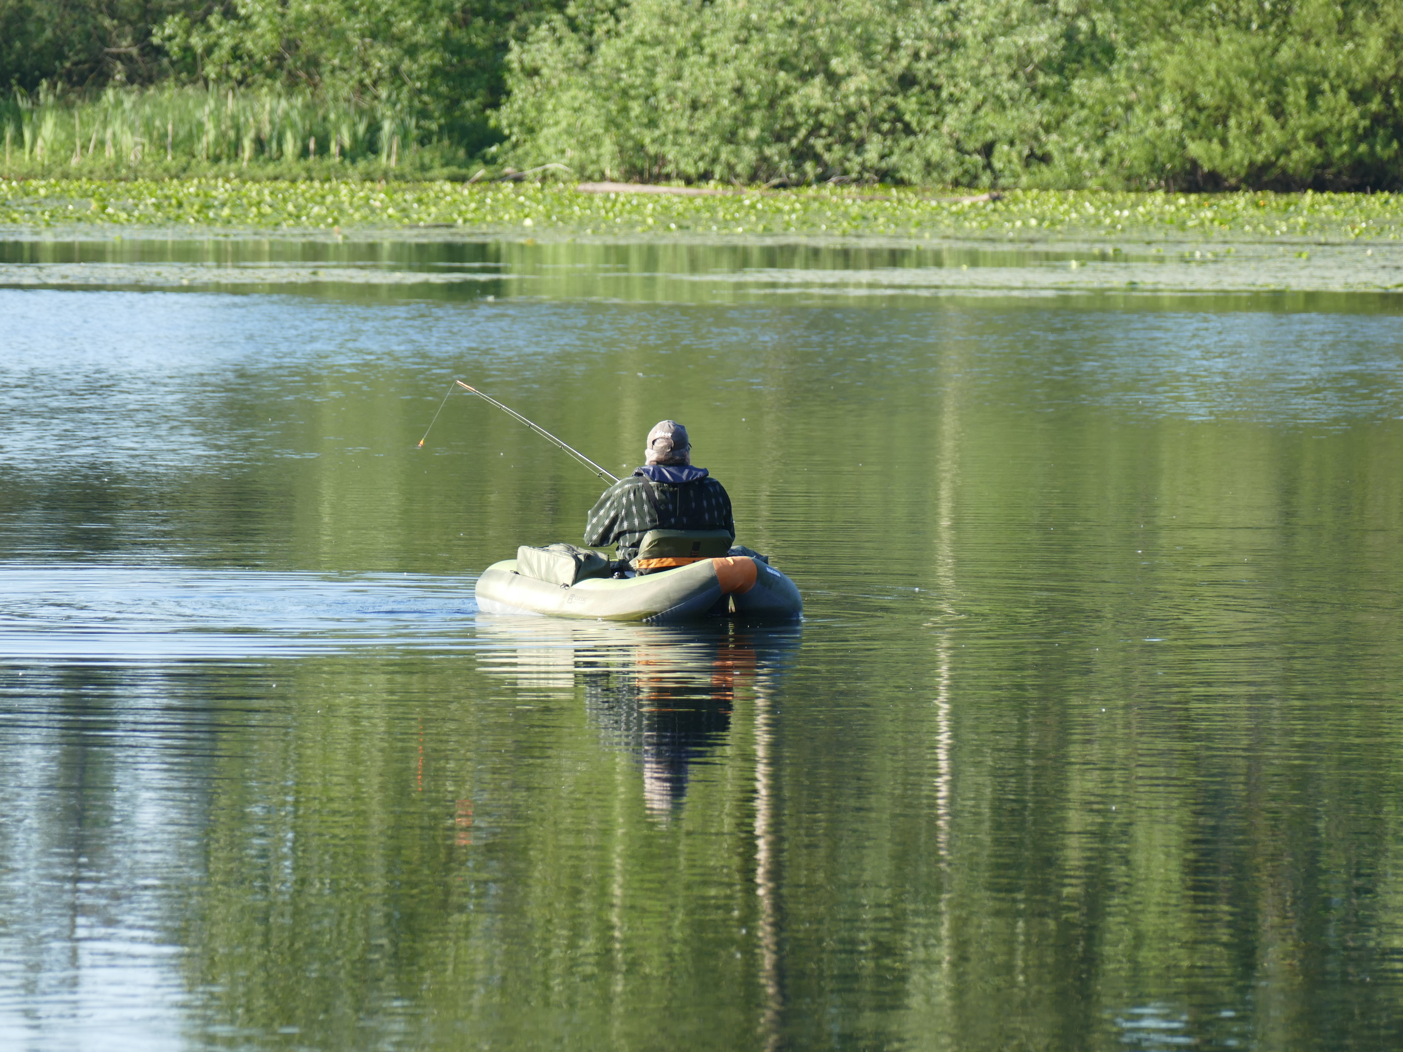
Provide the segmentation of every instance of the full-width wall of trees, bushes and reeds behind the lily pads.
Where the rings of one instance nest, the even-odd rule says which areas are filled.
[[[188,157],[316,139],[641,180],[1403,187],[1392,0],[0,0],[13,25],[32,39],[0,36],[0,77],[21,86],[189,84],[143,97]],[[97,46],[98,25],[136,43]],[[32,101],[17,149],[24,114],[46,126]]]

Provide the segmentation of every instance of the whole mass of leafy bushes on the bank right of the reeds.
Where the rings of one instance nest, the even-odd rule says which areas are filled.
[[[582,0],[499,119],[599,175],[1397,187],[1400,56],[1375,1]]]

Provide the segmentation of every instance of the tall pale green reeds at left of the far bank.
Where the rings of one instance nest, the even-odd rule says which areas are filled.
[[[7,171],[149,167],[153,161],[250,166],[317,159],[398,166],[424,144],[411,115],[281,87],[41,87],[0,97]]]

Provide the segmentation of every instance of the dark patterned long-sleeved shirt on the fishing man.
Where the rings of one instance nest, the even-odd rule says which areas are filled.
[[[658,497],[657,512],[648,499],[648,485]],[[710,477],[672,484],[630,476],[605,490],[589,509],[585,544],[599,548],[617,543],[619,558],[633,558],[648,530],[728,530],[734,540],[731,498],[725,487]]]

